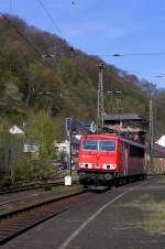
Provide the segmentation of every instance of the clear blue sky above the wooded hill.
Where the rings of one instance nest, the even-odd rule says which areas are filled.
[[[81,51],[165,88],[165,0],[1,0],[1,12],[58,34]],[[114,53],[122,57],[106,56]],[[140,55],[140,54],[153,55]],[[139,55],[129,55],[139,54]],[[164,74],[164,77],[156,75]]]

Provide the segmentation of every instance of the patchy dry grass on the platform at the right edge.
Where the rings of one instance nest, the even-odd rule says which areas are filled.
[[[138,227],[150,234],[165,235],[165,201],[156,202],[145,194],[127,206],[139,208],[142,212],[143,218],[136,221]]]

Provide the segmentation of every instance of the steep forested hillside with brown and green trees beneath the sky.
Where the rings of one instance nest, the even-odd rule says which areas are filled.
[[[52,57],[45,56],[54,55]],[[2,123],[30,123],[40,111],[51,117],[55,139],[64,137],[65,118],[95,120],[99,57],[74,50],[63,39],[29,26],[18,17],[0,18],[0,117]],[[154,98],[155,136],[165,132],[165,90],[106,64],[106,112],[120,90],[124,112],[148,117]],[[108,91],[113,91],[109,95]],[[2,129],[2,128],[1,128]]]

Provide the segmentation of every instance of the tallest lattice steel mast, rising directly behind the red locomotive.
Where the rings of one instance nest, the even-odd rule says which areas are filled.
[[[99,127],[103,130],[105,124],[105,104],[103,104],[103,82],[102,73],[105,66],[103,64],[99,65],[99,83],[98,83],[98,112],[97,112],[97,132]]]

